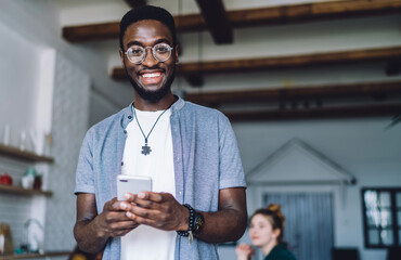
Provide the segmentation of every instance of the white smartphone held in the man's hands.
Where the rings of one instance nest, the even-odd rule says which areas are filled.
[[[117,176],[117,199],[126,200],[124,194],[127,192],[137,194],[139,192],[152,192],[152,178],[140,176]]]

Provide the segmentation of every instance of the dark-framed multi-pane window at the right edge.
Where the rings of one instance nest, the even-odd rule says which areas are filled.
[[[401,187],[362,188],[365,247],[401,247]]]

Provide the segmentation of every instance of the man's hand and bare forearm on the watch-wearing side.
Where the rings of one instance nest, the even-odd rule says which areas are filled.
[[[126,216],[135,223],[164,231],[187,231],[190,211],[169,193],[127,193]],[[195,208],[196,209],[196,208]],[[246,229],[247,212],[244,187],[220,190],[219,209],[202,212],[205,224],[195,237],[207,243],[225,243],[241,238]]]

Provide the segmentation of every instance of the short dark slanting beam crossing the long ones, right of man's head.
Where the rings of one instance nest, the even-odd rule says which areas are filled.
[[[228,20],[222,0],[196,0],[207,28],[217,44],[233,43],[233,29]]]

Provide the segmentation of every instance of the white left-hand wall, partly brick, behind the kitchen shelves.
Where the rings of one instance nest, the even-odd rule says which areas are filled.
[[[78,153],[88,129],[92,80],[88,72],[101,70],[101,63],[95,53],[61,40],[57,15],[51,3],[43,1],[0,2],[0,133],[10,125],[9,144],[17,146],[22,130],[51,130],[53,145],[48,155],[55,159],[49,167],[35,165],[44,171],[43,188],[52,191],[52,197],[1,194],[0,218],[11,224],[14,248],[26,242],[23,224],[33,217],[44,223],[44,249],[72,250],[76,244],[73,192]],[[105,78],[103,83],[109,80]],[[93,79],[99,81],[102,77]],[[7,170],[15,184],[31,166],[0,159],[0,172]]]

